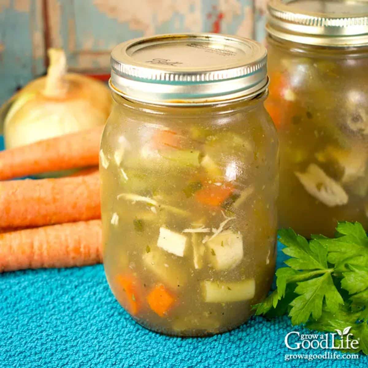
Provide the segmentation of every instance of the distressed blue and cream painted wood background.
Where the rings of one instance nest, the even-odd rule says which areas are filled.
[[[63,47],[70,70],[109,73],[110,50],[168,32],[264,38],[266,0],[0,0],[0,104],[43,75],[48,47]]]

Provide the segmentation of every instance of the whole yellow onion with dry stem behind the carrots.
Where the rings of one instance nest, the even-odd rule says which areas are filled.
[[[49,49],[48,54],[47,75],[30,82],[8,103],[3,122],[6,148],[102,125],[109,116],[107,86],[67,73],[63,50]]]

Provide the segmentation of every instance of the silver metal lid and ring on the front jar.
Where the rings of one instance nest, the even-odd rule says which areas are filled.
[[[260,43],[212,33],[167,34],[120,43],[110,87],[128,99],[163,105],[250,98],[268,86]]]

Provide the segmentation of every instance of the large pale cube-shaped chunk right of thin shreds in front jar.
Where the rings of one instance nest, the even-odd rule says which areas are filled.
[[[243,258],[243,236],[226,230],[206,243],[208,259],[216,270],[233,268]]]

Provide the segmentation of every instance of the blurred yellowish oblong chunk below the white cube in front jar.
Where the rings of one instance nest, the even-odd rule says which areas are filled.
[[[187,283],[187,273],[171,256],[158,248],[150,249],[143,255],[143,263],[164,285],[177,289]]]

